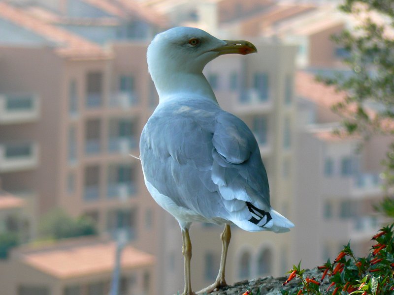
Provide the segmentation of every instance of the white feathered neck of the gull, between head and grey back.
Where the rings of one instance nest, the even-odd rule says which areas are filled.
[[[202,73],[163,73],[152,76],[159,94],[159,103],[170,99],[190,97],[218,103],[211,86]]]

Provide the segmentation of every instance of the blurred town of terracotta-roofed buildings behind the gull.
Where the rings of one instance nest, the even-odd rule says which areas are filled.
[[[385,221],[373,205],[386,194],[391,139],[333,133],[342,118],[332,105],[346,94],[315,76],[358,71],[331,39],[360,21],[339,3],[0,0],[1,293],[107,295],[114,270],[120,295],[182,292],[179,225],[130,156],[158,104],[147,46],[175,26],[258,48],[204,73],[222,108],[254,132],[271,205],[296,225],[281,235],[232,227],[227,282],[321,265],[349,240],[365,255]],[[216,278],[221,231],[191,229],[195,290]]]

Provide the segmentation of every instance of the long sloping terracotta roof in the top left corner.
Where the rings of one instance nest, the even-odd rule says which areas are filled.
[[[0,18],[31,30],[59,45],[55,52],[71,59],[106,59],[109,55],[98,45],[72,34],[64,29],[51,26],[30,16],[21,9],[0,2]]]

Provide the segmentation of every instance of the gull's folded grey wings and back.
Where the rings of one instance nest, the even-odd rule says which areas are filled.
[[[146,179],[207,219],[252,218],[247,203],[270,209],[258,144],[239,118],[217,109],[163,109],[148,120],[140,152]]]

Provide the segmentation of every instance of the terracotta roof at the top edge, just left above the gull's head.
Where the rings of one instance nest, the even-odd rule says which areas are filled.
[[[165,26],[164,17],[156,13],[153,9],[144,7],[134,0],[84,0],[85,2],[99,7],[106,12],[122,17],[128,18],[131,15],[137,15],[149,23],[158,25],[159,27]]]

